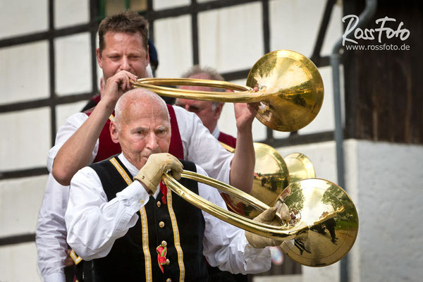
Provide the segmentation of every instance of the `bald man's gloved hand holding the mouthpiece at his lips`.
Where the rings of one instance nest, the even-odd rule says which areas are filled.
[[[161,176],[164,172],[171,169],[173,178],[180,179],[180,173],[183,171],[183,165],[176,157],[168,153],[152,154],[147,159],[144,166],[138,171],[134,179],[147,186],[150,190],[149,194],[152,195],[157,190]]]

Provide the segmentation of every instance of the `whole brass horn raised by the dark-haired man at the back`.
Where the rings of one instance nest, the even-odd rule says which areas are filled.
[[[313,121],[323,103],[324,87],[319,70],[306,56],[290,50],[272,51],[252,66],[247,86],[219,80],[192,78],[142,78],[144,87],[162,96],[214,102],[260,102],[257,118],[267,127],[295,131]],[[207,86],[240,92],[181,90],[159,85]],[[259,91],[253,88],[258,86]]]

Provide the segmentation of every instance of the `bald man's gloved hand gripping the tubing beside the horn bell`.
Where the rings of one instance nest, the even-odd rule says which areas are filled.
[[[281,203],[280,201],[276,202],[274,207],[266,209],[264,212],[256,216],[253,220],[259,221],[262,223],[270,224],[273,226],[281,226],[281,221],[275,216],[276,212],[281,214],[283,221],[290,221],[290,213],[286,204]],[[272,238],[267,238],[264,236],[245,231],[245,238],[247,238],[248,243],[255,247],[256,249],[261,249],[267,246],[278,246],[281,245],[283,240],[276,240]]]

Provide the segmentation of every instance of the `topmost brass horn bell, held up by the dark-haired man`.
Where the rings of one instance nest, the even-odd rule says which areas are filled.
[[[264,92],[257,119],[269,128],[292,132],[311,123],[324,98],[317,66],[290,50],[272,51],[252,66],[247,86]]]

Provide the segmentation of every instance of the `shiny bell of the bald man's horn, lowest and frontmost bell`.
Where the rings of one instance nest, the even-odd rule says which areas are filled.
[[[305,266],[338,262],[353,247],[358,233],[358,214],[353,201],[329,180],[309,178],[290,184],[279,199],[290,210],[290,225],[309,226],[293,240],[284,240],[281,250]]]

